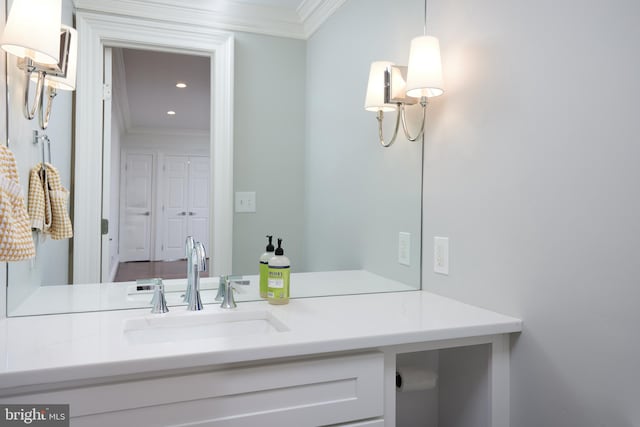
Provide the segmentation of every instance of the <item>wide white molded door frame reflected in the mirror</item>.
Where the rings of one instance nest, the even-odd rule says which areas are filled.
[[[210,225],[213,275],[231,273],[233,230],[232,33],[206,27],[77,11],[73,283],[99,283],[101,271],[103,48],[191,53],[211,58]],[[108,153],[110,147],[105,147]]]

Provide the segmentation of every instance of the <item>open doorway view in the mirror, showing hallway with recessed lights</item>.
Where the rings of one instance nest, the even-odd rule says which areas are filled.
[[[107,47],[104,63],[111,281],[185,277],[186,237],[210,249],[210,60]]]

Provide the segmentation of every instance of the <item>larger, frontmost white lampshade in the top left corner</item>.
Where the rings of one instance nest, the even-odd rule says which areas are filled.
[[[2,49],[40,64],[60,59],[62,0],[14,0],[2,34]]]

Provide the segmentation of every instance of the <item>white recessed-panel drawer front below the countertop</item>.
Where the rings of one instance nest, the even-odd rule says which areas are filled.
[[[319,426],[382,416],[383,369],[383,354],[376,352],[81,387],[15,401],[69,403],[72,426]]]

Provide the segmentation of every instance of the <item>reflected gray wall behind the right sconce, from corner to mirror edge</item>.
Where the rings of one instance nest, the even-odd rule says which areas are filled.
[[[422,144],[399,137],[380,147],[376,115],[364,110],[364,98],[371,62],[407,63],[409,40],[422,31],[413,13],[420,4],[350,0],[308,41],[305,253],[311,271],[364,268],[419,286]],[[387,117],[389,134],[395,113]],[[399,232],[411,233],[411,267],[397,261]]]

